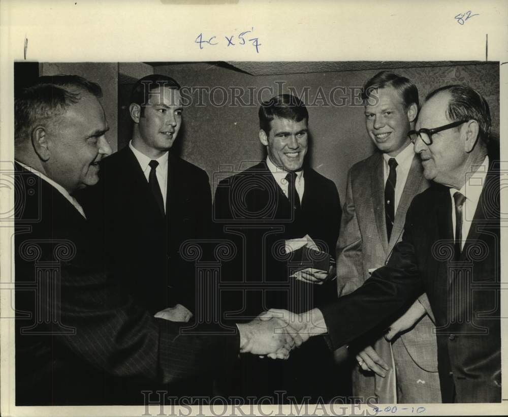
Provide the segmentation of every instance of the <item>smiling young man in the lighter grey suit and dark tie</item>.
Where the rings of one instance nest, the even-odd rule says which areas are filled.
[[[337,290],[352,293],[388,261],[402,238],[407,208],[429,182],[407,133],[418,114],[418,89],[405,77],[382,71],[364,87],[365,124],[378,152],[347,176],[346,201],[337,242]],[[362,402],[440,402],[437,347],[426,294],[390,331],[350,345],[359,363],[353,395]],[[403,332],[398,337],[394,336]],[[376,340],[377,339],[377,340]],[[390,344],[391,340],[391,344]],[[372,372],[373,369],[375,372]]]

